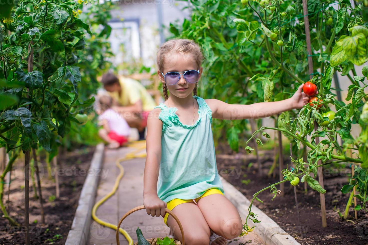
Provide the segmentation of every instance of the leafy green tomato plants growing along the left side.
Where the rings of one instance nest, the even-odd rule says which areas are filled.
[[[3,205],[4,177],[21,150],[26,178],[31,150],[42,148],[54,158],[71,127],[79,125],[77,112],[92,110],[97,76],[109,68],[104,57],[110,54],[111,3],[10,2],[0,11],[0,146],[10,156],[1,174],[0,206],[10,224],[19,225]]]

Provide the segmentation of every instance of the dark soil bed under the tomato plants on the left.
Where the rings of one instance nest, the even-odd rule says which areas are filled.
[[[60,198],[56,199],[55,183],[49,179],[44,157],[38,159],[41,179],[45,224],[41,224],[40,201],[34,197],[32,180],[29,183],[29,237],[31,244],[65,244],[77,209],[78,199],[88,174],[94,147],[79,148],[59,154]],[[24,161],[24,155],[22,155]],[[21,159],[20,159],[21,160]],[[16,162],[11,172],[10,195],[4,184],[4,204],[10,216],[20,224],[12,227],[8,220],[0,219],[0,244],[25,244],[24,224],[24,162]],[[54,167],[52,166],[54,172]],[[41,176],[41,175],[40,175]]]

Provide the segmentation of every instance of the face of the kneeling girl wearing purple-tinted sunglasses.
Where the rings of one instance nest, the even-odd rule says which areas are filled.
[[[202,69],[203,69],[202,67],[199,68],[198,80],[201,78]],[[189,70],[198,71],[197,63],[194,60],[193,55],[173,53],[165,57],[165,62],[163,64],[163,71],[159,70],[158,75],[161,82],[165,83],[164,76],[161,74],[161,72],[165,75],[167,72],[185,72]],[[191,95],[193,93],[195,86],[196,86],[195,83],[187,82],[184,79],[183,75],[180,76],[180,80],[176,84],[174,85],[166,84],[167,89],[170,91],[170,95],[174,95],[179,98],[185,98]]]

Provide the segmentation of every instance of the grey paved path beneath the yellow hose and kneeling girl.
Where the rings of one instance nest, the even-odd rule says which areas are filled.
[[[96,194],[95,202],[108,194],[114,185],[119,169],[115,165],[117,158],[123,157],[134,148],[119,148],[116,150],[106,149],[103,170],[105,174],[100,177],[100,183]],[[143,150],[142,152],[144,152]],[[143,174],[145,158],[135,158],[121,163],[124,167],[124,176],[120,181],[119,188],[115,195],[110,197],[97,210],[97,216],[109,223],[118,224],[123,215],[136,206],[143,205]],[[129,233],[134,242],[137,242],[135,231],[137,227],[142,230],[145,238],[165,237],[169,234],[170,228],[167,227],[162,217],[152,217],[147,215],[144,209],[129,215],[121,227]],[[250,241],[251,240],[251,241]],[[89,235],[89,245],[111,245],[116,244],[116,231],[111,228],[101,226],[92,220]],[[125,237],[120,234],[120,244],[128,245]],[[242,238],[229,241],[230,245],[237,244],[263,244],[262,240],[254,233]]]

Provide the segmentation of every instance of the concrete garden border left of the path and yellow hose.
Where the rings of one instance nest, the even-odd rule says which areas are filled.
[[[96,146],[95,153],[89,169],[95,170],[93,173],[99,173],[102,168],[104,144],[100,143]],[[68,233],[66,245],[85,245],[88,241],[89,226],[92,221],[92,208],[95,203],[96,191],[100,174],[87,175],[84,181],[81,195],[79,196],[78,207],[71,229]]]

